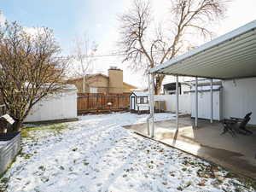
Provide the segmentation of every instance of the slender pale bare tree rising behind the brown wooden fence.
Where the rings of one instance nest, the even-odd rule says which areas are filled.
[[[73,76],[83,78],[83,92],[85,92],[86,76],[93,70],[93,62],[96,61],[97,44],[90,41],[84,33],[83,36],[75,38],[74,59],[78,62],[77,67],[73,68]]]

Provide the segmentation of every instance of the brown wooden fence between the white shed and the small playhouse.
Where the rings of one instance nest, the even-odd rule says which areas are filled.
[[[129,110],[130,94],[79,93],[78,114]]]

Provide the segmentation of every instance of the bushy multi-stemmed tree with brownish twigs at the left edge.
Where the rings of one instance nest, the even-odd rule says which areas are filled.
[[[11,117],[13,131],[20,127],[32,107],[41,99],[65,88],[67,59],[49,28],[35,34],[14,23],[0,29],[0,96]]]

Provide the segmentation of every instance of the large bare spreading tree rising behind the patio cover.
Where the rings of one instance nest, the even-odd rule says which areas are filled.
[[[131,9],[120,15],[119,46],[125,52],[124,61],[133,69],[145,73],[188,49],[193,34],[211,37],[209,23],[224,16],[226,0],[172,0],[170,22],[154,25],[149,1],[134,0]],[[166,30],[166,28],[168,30]],[[190,38],[190,39],[188,39]],[[155,75],[155,94],[165,75]]]

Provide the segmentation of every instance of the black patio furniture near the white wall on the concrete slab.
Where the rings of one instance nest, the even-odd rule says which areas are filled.
[[[224,131],[221,134],[224,134],[226,132],[230,132],[230,134],[235,137],[236,133],[244,134],[244,135],[252,135],[253,132],[247,130],[246,125],[250,121],[250,116],[252,115],[252,112],[247,113],[246,116],[241,118],[235,118],[230,117],[230,119],[224,119],[222,121],[224,125]]]

